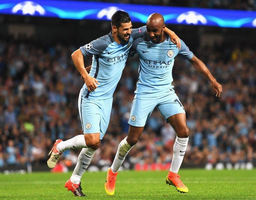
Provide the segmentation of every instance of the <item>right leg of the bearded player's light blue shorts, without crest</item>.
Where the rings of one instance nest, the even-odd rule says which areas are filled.
[[[100,100],[100,139],[104,137],[110,120],[113,98]]]

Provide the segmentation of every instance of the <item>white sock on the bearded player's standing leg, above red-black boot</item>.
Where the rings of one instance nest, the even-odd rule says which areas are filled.
[[[77,164],[74,169],[73,174],[70,177],[70,181],[75,184],[79,184],[81,182],[81,177],[84,174],[85,170],[87,169],[88,165],[92,161],[92,157],[96,150],[91,148],[83,148],[80,152]]]

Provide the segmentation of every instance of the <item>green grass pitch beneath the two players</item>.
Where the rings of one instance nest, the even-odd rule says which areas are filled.
[[[86,172],[81,186],[87,197],[74,197],[64,188],[71,173],[0,174],[0,199],[256,199],[255,169],[181,169],[179,174],[189,189],[186,194],[166,185],[165,171],[124,171],[117,176],[115,195],[107,196],[106,173]]]

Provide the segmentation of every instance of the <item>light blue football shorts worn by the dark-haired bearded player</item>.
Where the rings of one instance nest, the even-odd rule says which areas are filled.
[[[81,91],[78,98],[78,110],[84,134],[100,133],[100,139],[102,139],[108,129],[113,98],[88,99],[82,96]]]

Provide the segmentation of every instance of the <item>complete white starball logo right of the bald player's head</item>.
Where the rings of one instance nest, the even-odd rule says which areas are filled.
[[[184,20],[185,20],[186,24],[196,25],[196,24],[198,24],[198,22],[201,22],[202,24],[207,23],[207,20],[205,19],[205,17],[195,11],[184,12],[184,13],[180,14],[179,17],[177,18],[177,22],[179,22],[179,23],[183,22]]]

